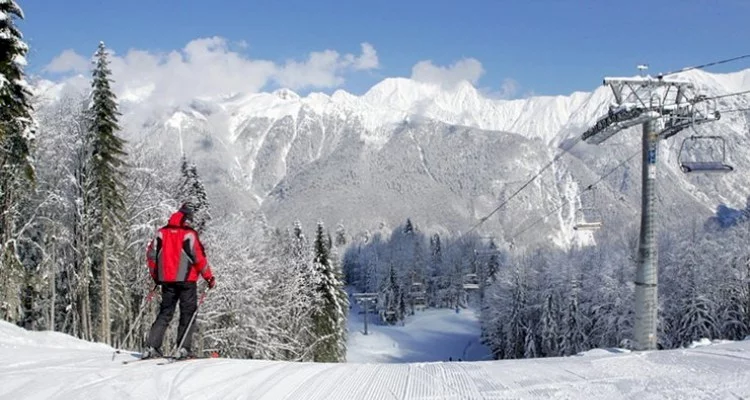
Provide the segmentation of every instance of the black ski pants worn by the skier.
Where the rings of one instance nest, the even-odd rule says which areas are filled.
[[[196,282],[170,282],[161,284],[159,315],[156,317],[154,324],[151,325],[151,331],[149,331],[148,340],[146,341],[148,346],[161,351],[164,332],[166,332],[169,323],[172,321],[178,302],[180,303],[180,324],[177,327],[177,343],[175,343],[175,346],[180,344],[180,340],[182,340],[182,336],[185,334],[185,329],[190,323],[190,319],[198,309],[197,287]],[[190,344],[195,326],[196,322],[193,321],[190,332],[187,332],[185,342],[182,344],[182,347],[188,352],[190,352]]]

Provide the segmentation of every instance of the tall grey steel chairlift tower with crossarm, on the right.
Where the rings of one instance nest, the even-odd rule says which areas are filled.
[[[639,65],[643,71],[647,67]],[[719,113],[703,111],[699,104],[705,96],[694,94],[692,83],[665,79],[663,76],[604,78],[604,85],[614,93],[615,102],[607,115],[583,133],[587,143],[600,144],[620,131],[642,125],[643,170],[641,197],[641,230],[638,243],[638,264],[635,276],[635,326],[633,342],[636,350],[656,349],[657,324],[657,247],[655,220],[656,160],[660,139],[681,130],[719,119]]]

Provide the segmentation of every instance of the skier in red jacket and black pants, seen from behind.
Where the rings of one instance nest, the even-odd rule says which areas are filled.
[[[198,232],[190,227],[193,220],[193,207],[183,204],[172,214],[166,226],[156,232],[146,250],[151,278],[161,286],[161,304],[146,341],[147,348],[143,359],[161,357],[161,344],[177,303],[180,303],[180,323],[177,328],[178,341],[183,340],[177,358],[192,357],[190,350],[191,337],[195,322],[190,330],[186,328],[198,309],[197,281],[198,275],[208,282],[208,288],[216,286],[211,267],[208,265],[203,245],[198,239]],[[178,342],[179,343],[179,342]]]

